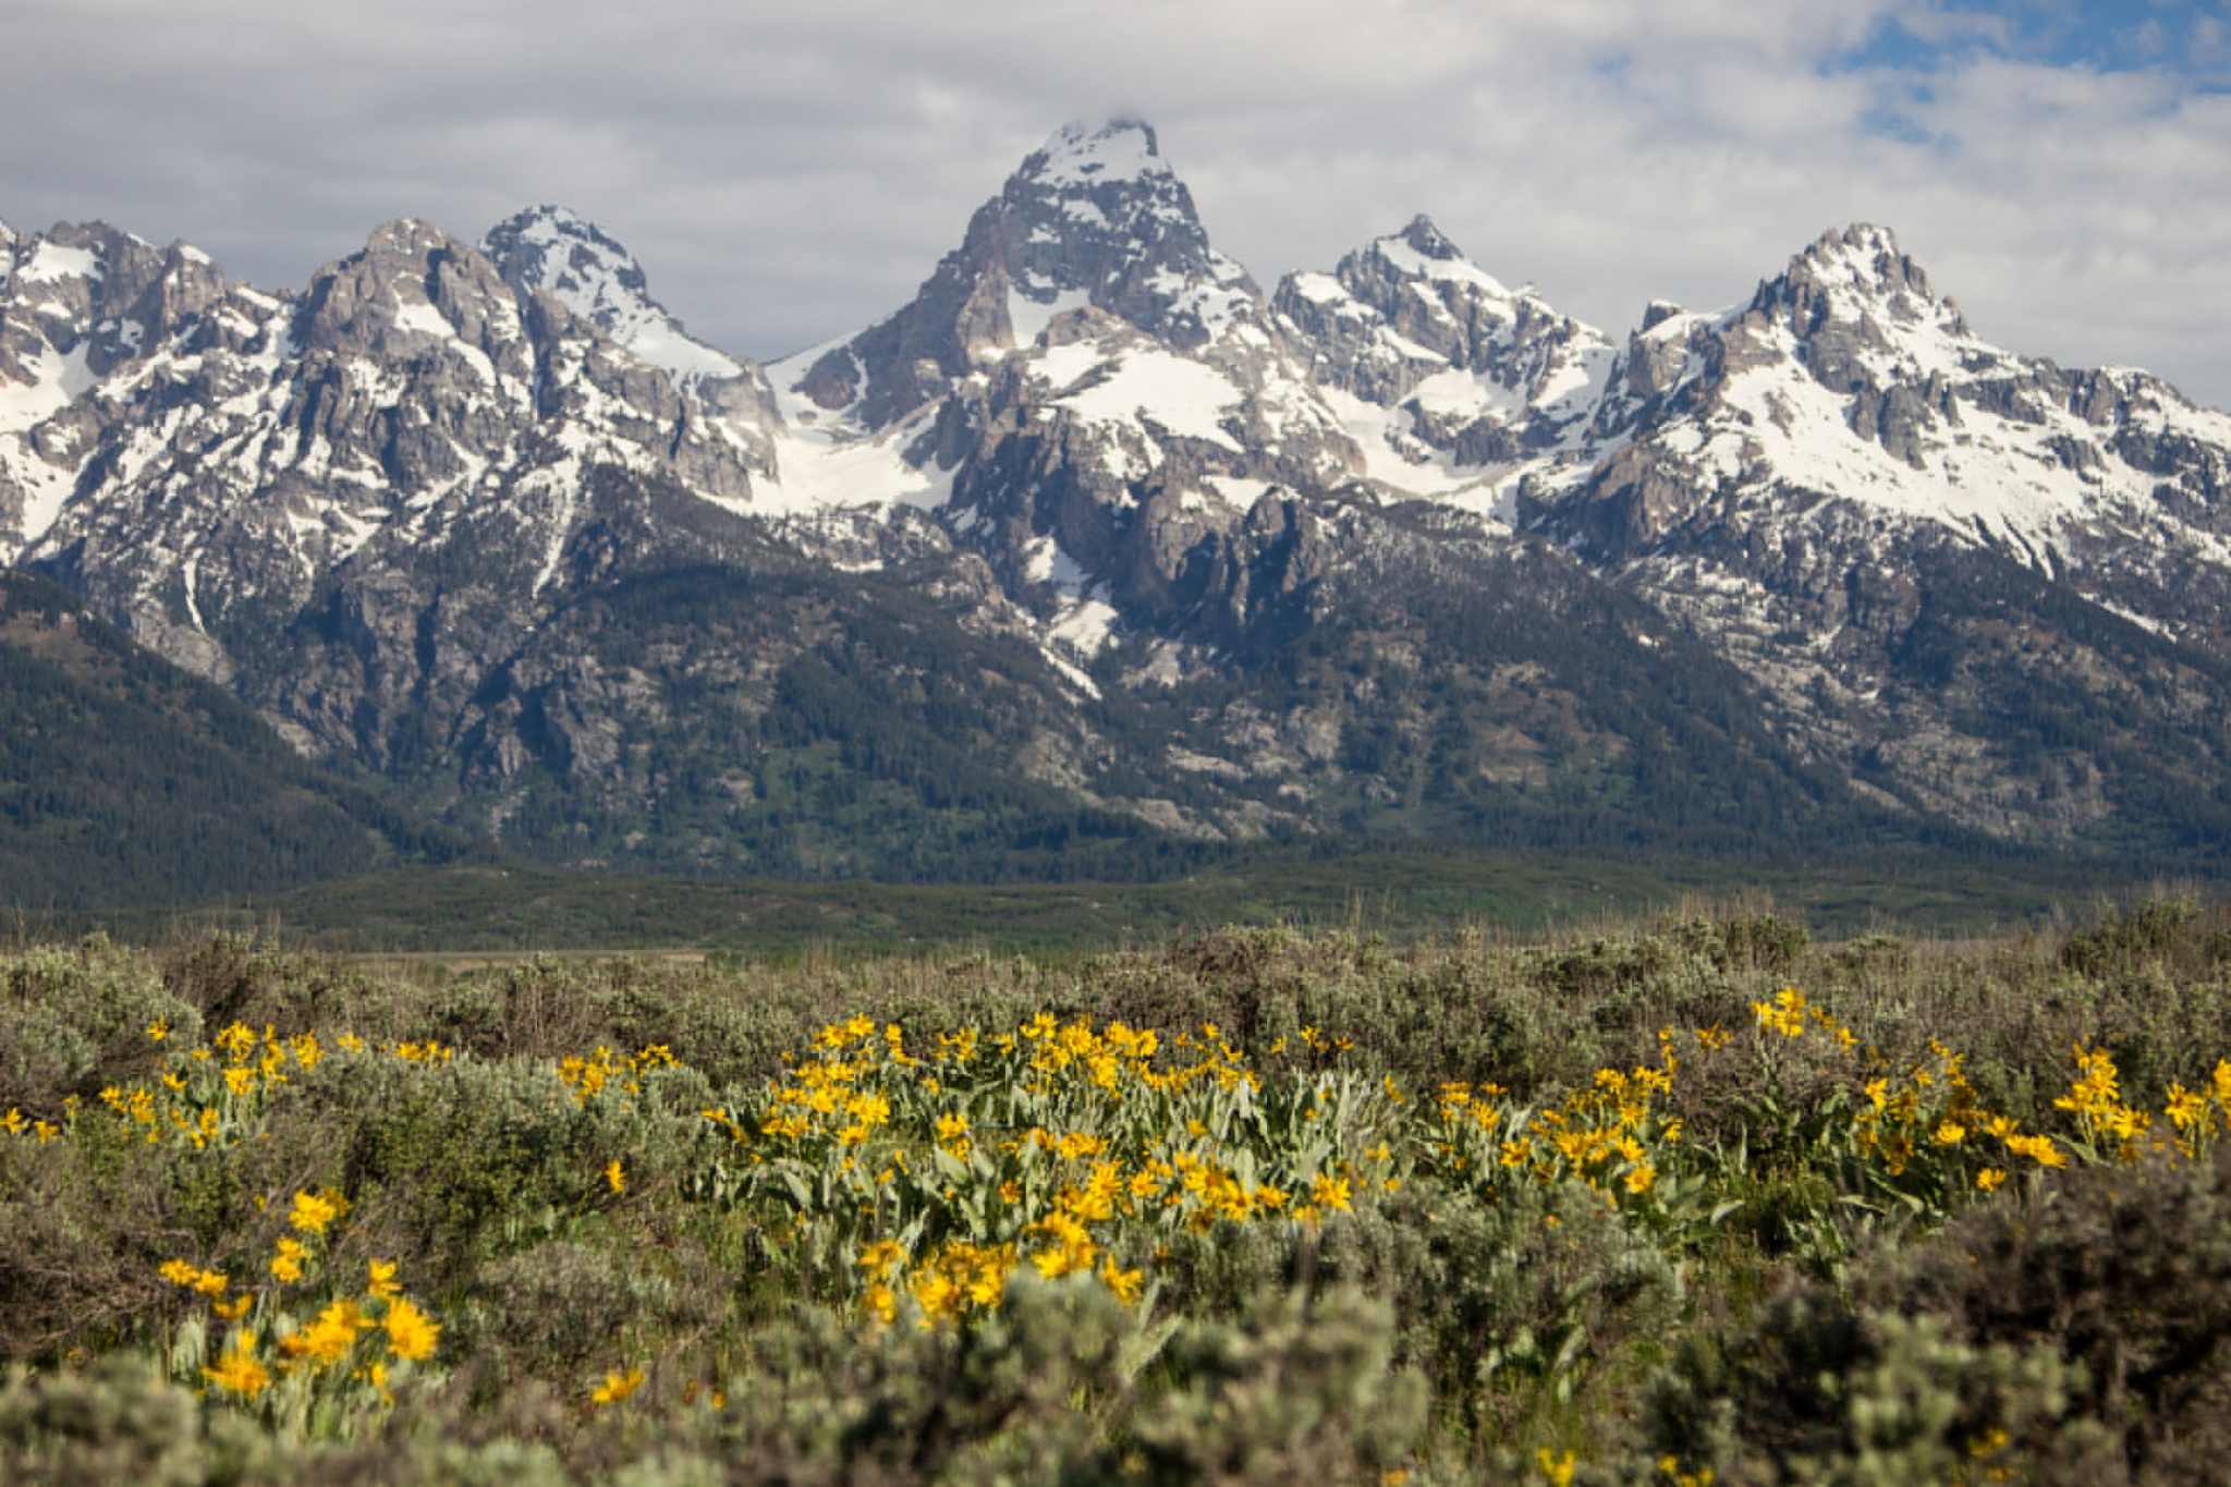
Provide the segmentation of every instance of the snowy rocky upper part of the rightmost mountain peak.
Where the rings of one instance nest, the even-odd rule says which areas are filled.
[[[1787,542],[1856,519],[2064,573],[2108,553],[2106,533],[2148,528],[2220,553],[2209,564],[2231,582],[2213,535],[2231,526],[2231,419],[2142,375],[1990,346],[1885,227],[1825,232],[1742,308],[1653,308],[1644,325],[1620,390],[1642,399],[1622,415],[1633,441],[1548,517],[1606,557],[1749,540],[1722,524]]]

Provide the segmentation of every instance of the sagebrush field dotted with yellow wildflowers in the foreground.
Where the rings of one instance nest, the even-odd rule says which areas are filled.
[[[0,1480],[2206,1483],[2231,919],[0,956]]]

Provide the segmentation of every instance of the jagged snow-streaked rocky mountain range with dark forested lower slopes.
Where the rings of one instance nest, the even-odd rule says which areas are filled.
[[[1247,843],[2231,840],[2231,417],[1883,227],[1624,334],[1426,216],[1265,292],[1066,127],[759,366],[602,227],[306,290],[0,225],[0,557],[513,852],[1156,874]]]

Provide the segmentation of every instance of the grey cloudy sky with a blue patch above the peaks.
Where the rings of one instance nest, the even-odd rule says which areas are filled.
[[[1606,330],[1896,227],[1988,339],[2231,406],[2227,0],[13,0],[0,221],[301,285],[558,201],[774,357],[1136,114],[1265,288],[1428,212]]]

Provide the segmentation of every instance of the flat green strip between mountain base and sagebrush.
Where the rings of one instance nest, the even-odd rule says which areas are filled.
[[[1162,883],[890,885],[736,883],[567,874],[522,865],[408,869],[292,894],[71,919],[16,914],[18,939],[105,930],[134,941],[257,932],[350,954],[821,947],[888,952],[986,943],[1049,952],[1151,945],[1218,925],[1348,930],[1394,941],[1475,927],[1553,934],[1696,905],[1765,905],[1825,936],[1896,925],[2008,934],[2104,907],[2084,863],[1604,863],[1539,856],[1267,856]],[[2206,885],[2155,883],[2195,894]]]

